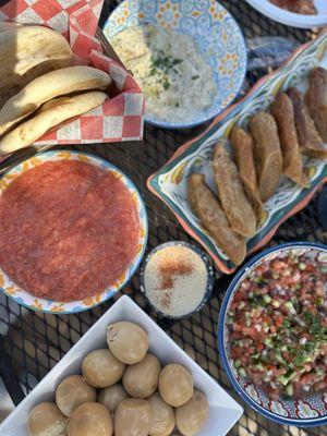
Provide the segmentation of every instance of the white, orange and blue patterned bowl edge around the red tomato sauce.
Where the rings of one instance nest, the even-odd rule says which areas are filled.
[[[94,296],[86,298],[84,300],[59,302],[59,301],[36,298],[32,295],[29,292],[25,291],[24,289],[19,288],[0,269],[0,290],[2,290],[8,296],[10,296],[16,303],[25,307],[32,308],[34,311],[52,313],[52,314],[70,314],[70,313],[83,312],[109,300],[116,292],[122,289],[130,281],[133,274],[137,269],[145,252],[147,243],[147,234],[148,234],[146,208],[133,182],[130,179],[128,179],[126,175],[124,175],[118,168],[109,164],[107,160],[89,155],[87,153],[60,150],[60,152],[45,152],[37,154],[34,157],[24,160],[22,164],[16,165],[2,177],[2,179],[0,180],[0,195],[20,173],[31,168],[34,168],[35,166],[40,165],[45,161],[62,160],[62,159],[89,162],[106,171],[110,171],[111,173],[119,177],[119,179],[124,183],[124,185],[128,187],[128,190],[130,191],[131,195],[135,201],[140,214],[141,229],[140,229],[138,251],[131,265],[124,271],[123,276],[120,277],[117,280],[117,282],[114,282],[110,288],[106,289],[104,292],[98,293]]]

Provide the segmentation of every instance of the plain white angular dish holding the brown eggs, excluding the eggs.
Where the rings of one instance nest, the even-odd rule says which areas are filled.
[[[243,409],[126,295],[109,308],[8,416],[0,425],[0,435],[26,436],[29,411],[43,401],[53,401],[56,388],[63,378],[81,374],[83,358],[93,350],[107,347],[106,328],[118,320],[141,325],[149,335],[150,351],[162,365],[180,363],[192,372],[195,387],[206,393],[210,405],[209,420],[199,436],[226,435],[242,415]]]

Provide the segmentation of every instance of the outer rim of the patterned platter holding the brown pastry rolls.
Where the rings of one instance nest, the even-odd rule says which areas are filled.
[[[255,98],[257,97],[258,93],[262,89],[265,89],[265,85],[267,84],[267,82],[268,84],[270,84],[274,83],[274,81],[278,81],[279,77],[283,77],[283,73],[288,71],[288,68],[295,64],[299,58],[301,61],[301,56],[302,55],[305,56],[306,52],[311,52],[310,50],[312,50],[316,57],[323,58],[326,48],[327,48],[327,31],[323,32],[322,35],[317,37],[314,41],[307,43],[299,47],[299,49],[294,51],[294,53],[287,60],[287,62],[284,62],[283,65],[281,65],[274,73],[267,74],[266,76],[261,78],[244,98],[242,98],[240,101],[232,105],[231,107],[226,109],[220,116],[218,116],[204,133],[202,133],[194,140],[191,140],[186,144],[182,145],[173,154],[173,156],[158,171],[153,173],[147,180],[148,190],[154,195],[156,195],[164,204],[166,204],[166,206],[170,208],[170,210],[173,213],[173,215],[175,216],[180,225],[183,227],[183,229],[199,244],[204,246],[204,249],[213,257],[218,269],[225,274],[234,272],[237,267],[229,259],[225,261],[225,258],[221,257],[221,255],[217,252],[217,249],[211,243],[211,241],[205,234],[199,233],[198,227],[190,222],[183,208],[177,206],[177,204],[168,195],[166,195],[166,193],[160,186],[159,180],[161,177],[168,174],[172,170],[174,169],[178,170],[179,168],[181,168],[183,164],[180,162],[184,158],[185,161],[187,162],[187,156],[190,154],[194,154],[197,149],[202,147],[202,145],[207,140],[209,140],[213,135],[215,135],[215,133],[221,126],[225,126],[229,122],[232,122],[234,117],[237,117],[242,110],[246,109],[253,101],[255,101]],[[280,86],[280,84],[278,86]],[[289,202],[289,204],[283,206],[280,210],[274,213],[268,226],[266,226],[266,228],[264,228],[252,240],[250,240],[250,243],[253,242],[254,240],[255,242],[253,242],[252,246],[247,250],[247,255],[265,246],[274,238],[274,234],[278,230],[279,226],[282,222],[284,222],[288,218],[290,218],[298,211],[302,210],[310,203],[316,191],[326,182],[327,182],[327,165],[324,165],[320,174],[315,177],[311,187],[300,190],[296,197],[293,198],[291,202]],[[267,227],[269,228],[267,229]]]

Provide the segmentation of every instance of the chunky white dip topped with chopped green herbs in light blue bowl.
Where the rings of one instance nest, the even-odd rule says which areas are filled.
[[[110,43],[146,96],[146,112],[185,122],[211,106],[218,93],[211,68],[193,38],[153,25],[129,27]]]

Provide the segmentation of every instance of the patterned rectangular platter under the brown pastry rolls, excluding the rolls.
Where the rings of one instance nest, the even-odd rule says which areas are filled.
[[[187,178],[191,172],[204,173],[206,182],[217,193],[211,167],[213,149],[217,141],[227,138],[234,124],[246,129],[250,118],[262,110],[267,110],[280,90],[295,86],[304,92],[308,86],[307,73],[318,64],[327,68],[326,48],[327,34],[300,51],[277,74],[270,75],[231,110],[227,110],[226,116],[221,114],[216,125],[209,128],[192,145],[185,146],[182,152],[179,150],[149,182],[150,187],[183,221],[183,227],[209,251],[215,261],[218,258],[220,263],[218,267],[225,267],[221,269],[226,272],[231,272],[234,266],[191,211],[187,202]],[[302,189],[282,178],[276,194],[265,203],[265,220],[255,237],[247,241],[247,252],[267,243],[284,217],[292,215],[291,211],[303,204],[327,177],[326,160],[306,159],[305,167],[310,173],[310,189]]]

